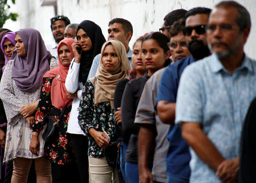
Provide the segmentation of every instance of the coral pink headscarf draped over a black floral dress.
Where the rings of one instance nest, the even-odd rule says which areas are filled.
[[[65,87],[65,80],[68,74],[68,66],[64,66],[60,62],[60,56],[59,56],[59,48],[61,45],[65,44],[68,46],[68,49],[70,50],[72,57],[74,57],[73,50],[72,50],[72,43],[75,42],[75,40],[71,38],[64,39],[60,41],[58,47],[57,47],[57,53],[59,58],[59,67],[47,71],[46,74],[44,74],[43,78],[53,78],[52,84],[51,84],[51,100],[52,105],[58,109],[63,109],[66,104],[67,107],[72,104],[72,99],[69,99],[67,96],[67,89]]]

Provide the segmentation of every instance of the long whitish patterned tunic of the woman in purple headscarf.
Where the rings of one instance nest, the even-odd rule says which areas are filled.
[[[57,67],[57,61],[55,58],[52,58],[50,68],[53,69],[55,67]],[[19,114],[19,110],[23,105],[32,104],[35,103],[36,100],[39,100],[40,88],[35,92],[20,91],[19,88],[16,87],[14,80],[11,79],[12,69],[13,60],[10,60],[7,63],[0,84],[0,97],[5,107],[8,122],[3,163],[17,157],[30,159],[40,158],[43,156],[44,150],[44,141],[42,135],[39,135],[39,155],[36,156],[30,152],[29,147],[32,130],[28,126],[27,121]]]

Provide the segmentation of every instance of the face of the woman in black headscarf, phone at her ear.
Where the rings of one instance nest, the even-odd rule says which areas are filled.
[[[84,52],[88,52],[92,49],[92,41],[83,29],[80,28],[79,31],[77,31],[76,39]]]

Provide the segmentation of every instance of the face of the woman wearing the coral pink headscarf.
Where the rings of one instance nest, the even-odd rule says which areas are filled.
[[[58,50],[58,54],[59,54],[60,62],[64,66],[69,66],[73,56],[71,54],[71,51],[68,49],[68,46],[65,44],[61,44]]]

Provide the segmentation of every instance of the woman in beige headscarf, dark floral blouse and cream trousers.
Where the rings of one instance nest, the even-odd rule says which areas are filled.
[[[120,41],[106,41],[101,49],[96,76],[85,83],[79,105],[79,125],[89,139],[89,164],[92,182],[118,182],[117,173],[105,157],[105,148],[113,142],[116,121],[113,97],[118,81],[127,78],[130,65]]]

